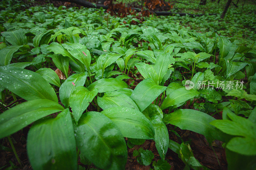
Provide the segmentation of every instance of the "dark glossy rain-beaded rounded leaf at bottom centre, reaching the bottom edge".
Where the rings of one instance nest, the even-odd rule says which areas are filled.
[[[127,146],[118,127],[99,112],[82,115],[74,127],[80,152],[101,169],[124,169]],[[100,154],[99,154],[100,153]]]

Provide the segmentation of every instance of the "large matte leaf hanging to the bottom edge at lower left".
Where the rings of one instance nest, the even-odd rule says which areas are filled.
[[[77,169],[76,141],[68,109],[56,118],[33,124],[27,140],[28,158],[34,169]]]

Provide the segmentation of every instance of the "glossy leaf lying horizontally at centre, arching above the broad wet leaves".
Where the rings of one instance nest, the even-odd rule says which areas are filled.
[[[124,81],[117,78],[102,78],[93,82],[87,88],[90,91],[97,88],[99,93],[103,93],[128,88],[128,85]]]

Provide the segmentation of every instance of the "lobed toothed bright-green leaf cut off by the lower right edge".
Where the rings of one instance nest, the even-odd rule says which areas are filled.
[[[211,124],[224,133],[239,136],[229,140],[226,147],[230,151],[243,155],[256,155],[256,125],[244,117],[235,115],[226,107],[223,109],[223,113],[230,120],[215,120]]]

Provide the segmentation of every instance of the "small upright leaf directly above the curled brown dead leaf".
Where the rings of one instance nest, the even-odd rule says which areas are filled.
[[[60,71],[68,78],[68,57],[61,54],[52,55],[52,61]]]

